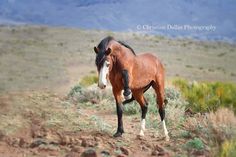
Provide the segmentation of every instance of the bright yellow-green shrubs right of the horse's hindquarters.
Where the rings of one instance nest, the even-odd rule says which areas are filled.
[[[195,112],[209,112],[219,107],[228,107],[236,113],[236,85],[233,83],[198,83],[176,79],[173,84],[180,89],[189,103],[188,107]]]

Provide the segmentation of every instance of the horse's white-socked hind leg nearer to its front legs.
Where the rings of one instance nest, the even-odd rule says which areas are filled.
[[[144,136],[144,131],[145,131],[145,125],[146,125],[146,114],[147,114],[147,109],[148,109],[148,103],[146,99],[143,96],[143,91],[138,91],[133,93],[135,99],[139,103],[141,110],[142,110],[142,115],[141,115],[141,129],[139,132],[140,136]]]

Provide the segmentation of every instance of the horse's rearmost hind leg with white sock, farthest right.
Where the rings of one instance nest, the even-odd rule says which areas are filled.
[[[168,135],[168,131],[166,129],[166,123],[165,123],[165,106],[164,106],[164,97],[165,97],[165,89],[164,89],[164,79],[160,79],[153,83],[153,88],[156,92],[157,95],[157,104],[159,107],[159,114],[161,117],[161,122],[163,125],[163,129],[164,129],[164,133],[165,133],[165,137],[166,137],[166,141],[169,141],[170,137]]]

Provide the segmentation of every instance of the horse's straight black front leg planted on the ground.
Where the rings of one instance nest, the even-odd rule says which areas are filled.
[[[121,90],[113,89],[113,94],[116,100],[116,113],[117,113],[117,120],[118,120],[118,128],[116,133],[113,135],[114,137],[120,137],[124,133],[124,127],[123,127],[123,104],[122,104],[122,98],[121,98]]]

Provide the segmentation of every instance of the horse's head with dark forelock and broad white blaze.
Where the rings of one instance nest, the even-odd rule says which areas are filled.
[[[107,78],[109,71],[112,69],[111,48],[106,50],[100,50],[98,47],[94,47],[96,53],[96,66],[99,73],[98,87],[104,89],[107,86]]]

